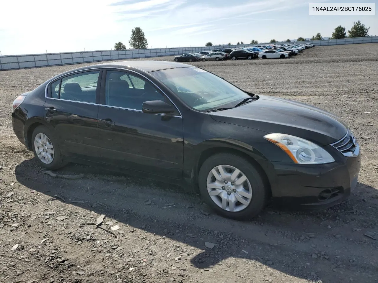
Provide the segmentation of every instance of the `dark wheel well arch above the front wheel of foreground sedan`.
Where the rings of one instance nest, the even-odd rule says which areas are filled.
[[[239,155],[240,157],[246,158],[252,165],[254,165],[256,167],[256,169],[262,175],[264,183],[269,188],[269,196],[271,197],[272,192],[271,192],[270,182],[269,182],[268,176],[266,175],[264,169],[260,166],[260,164],[256,160],[254,160],[253,157],[249,156],[248,154],[245,154],[242,151],[234,149],[234,148],[215,147],[215,148],[206,149],[205,151],[201,152],[200,157],[198,158],[198,161],[197,161],[197,165],[196,165],[197,167],[194,170],[194,172],[195,172],[195,174],[194,174],[195,179],[194,180],[195,180],[196,184],[198,184],[198,173],[200,172],[200,168],[201,168],[202,164],[204,163],[204,161],[206,159],[208,159],[210,156],[212,156],[214,154],[218,154],[218,153],[231,153],[231,154]],[[198,186],[196,186],[196,188],[197,187]]]

